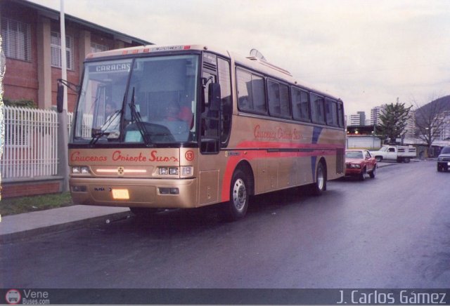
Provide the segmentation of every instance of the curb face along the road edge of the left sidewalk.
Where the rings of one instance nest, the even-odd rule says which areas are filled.
[[[51,234],[56,232],[65,232],[68,230],[77,230],[86,225],[100,225],[101,223],[109,223],[122,219],[130,218],[131,213],[124,211],[121,213],[111,213],[108,215],[100,215],[93,218],[86,218],[82,220],[74,220],[71,222],[60,223],[56,225],[49,225],[45,227],[37,227],[31,230],[21,232],[13,232],[9,234],[0,234],[0,244],[11,244],[18,240],[28,240],[42,234]]]

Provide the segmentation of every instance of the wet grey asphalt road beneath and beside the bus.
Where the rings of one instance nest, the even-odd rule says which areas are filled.
[[[1,288],[449,288],[450,173],[389,164],[364,182],[252,199],[245,219],[171,211],[0,248]]]

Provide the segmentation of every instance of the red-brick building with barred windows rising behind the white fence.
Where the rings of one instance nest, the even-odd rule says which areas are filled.
[[[2,49],[6,56],[5,100],[32,100],[37,107],[56,105],[61,77],[60,12],[25,0],[0,0]],[[88,53],[151,44],[65,14],[68,81],[79,84]],[[68,91],[68,112],[77,94]]]

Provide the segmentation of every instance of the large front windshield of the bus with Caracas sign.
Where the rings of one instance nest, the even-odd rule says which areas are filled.
[[[86,62],[74,142],[196,141],[198,56]]]

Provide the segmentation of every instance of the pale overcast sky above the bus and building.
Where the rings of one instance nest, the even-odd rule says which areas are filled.
[[[63,1],[67,14],[158,45],[257,48],[300,84],[341,98],[347,115],[450,95],[448,0]]]

